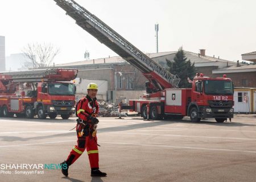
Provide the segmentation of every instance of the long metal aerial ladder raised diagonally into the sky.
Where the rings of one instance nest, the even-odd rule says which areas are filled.
[[[67,15],[75,19],[76,24],[81,28],[93,35],[98,41],[108,46],[131,65],[138,68],[156,89],[177,88],[180,78],[176,75],[172,75],[161,65],[139,51],[138,48],[133,46],[133,44],[128,42],[84,7],[73,0],[54,1],[67,12]]]

